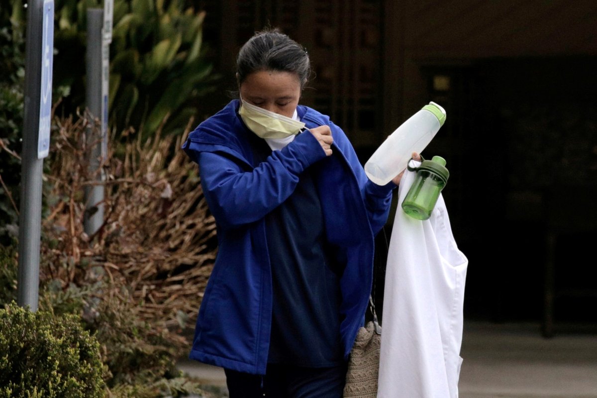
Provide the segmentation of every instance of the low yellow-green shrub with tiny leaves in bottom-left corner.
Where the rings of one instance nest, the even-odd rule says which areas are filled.
[[[0,397],[103,397],[104,369],[76,316],[0,310]]]

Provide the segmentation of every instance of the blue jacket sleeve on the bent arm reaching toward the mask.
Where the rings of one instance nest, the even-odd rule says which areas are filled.
[[[224,153],[195,153],[208,205],[216,221],[229,228],[265,217],[293,193],[298,176],[307,166],[325,158],[321,145],[309,132],[299,134],[284,149],[273,151],[252,171]]]

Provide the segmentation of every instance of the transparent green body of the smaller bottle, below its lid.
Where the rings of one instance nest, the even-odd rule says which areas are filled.
[[[428,170],[419,170],[413,185],[402,202],[402,209],[417,220],[427,220],[438,202],[445,180]]]

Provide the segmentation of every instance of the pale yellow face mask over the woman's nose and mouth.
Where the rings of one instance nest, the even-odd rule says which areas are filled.
[[[242,100],[238,111],[247,127],[261,138],[286,138],[298,134],[304,128],[303,122],[298,122],[287,116],[260,108]]]

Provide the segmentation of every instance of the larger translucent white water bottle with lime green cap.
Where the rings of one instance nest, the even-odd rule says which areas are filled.
[[[377,185],[386,185],[407,167],[413,152],[420,153],[444,125],[446,112],[434,102],[400,125],[365,163],[365,174]]]

